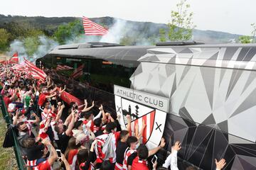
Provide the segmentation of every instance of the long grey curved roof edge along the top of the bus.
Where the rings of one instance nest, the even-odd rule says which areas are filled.
[[[102,43],[104,44],[104,43]],[[49,52],[50,55],[62,57],[96,57],[107,60],[133,60],[137,61],[147,50],[154,48],[193,48],[193,47],[256,47],[256,44],[198,44],[198,45],[164,45],[164,46],[118,46],[118,44],[105,43],[105,47],[92,44],[82,43],[73,45],[60,45]],[[112,47],[113,46],[113,47]]]

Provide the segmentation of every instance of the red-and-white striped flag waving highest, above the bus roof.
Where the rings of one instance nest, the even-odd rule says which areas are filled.
[[[105,35],[108,31],[97,23],[90,21],[85,16],[82,17],[82,23],[85,30],[85,35]]]

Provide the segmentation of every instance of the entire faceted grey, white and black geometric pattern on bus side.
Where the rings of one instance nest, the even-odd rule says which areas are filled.
[[[170,98],[164,136],[202,169],[256,169],[256,47],[154,48],[130,78],[139,91]]]

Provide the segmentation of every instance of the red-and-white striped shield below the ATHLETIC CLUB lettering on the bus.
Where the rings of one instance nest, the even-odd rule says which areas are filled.
[[[124,88],[122,87],[122,89]],[[132,93],[136,93],[136,91],[132,91]],[[149,95],[147,97],[149,98]],[[136,135],[139,132],[142,135],[140,142],[149,148],[159,145],[164,132],[166,112],[132,101],[125,96],[118,96],[117,93],[115,93],[115,105],[117,115],[120,115],[119,123],[122,129],[127,128],[127,115],[129,115],[131,118],[131,135]]]

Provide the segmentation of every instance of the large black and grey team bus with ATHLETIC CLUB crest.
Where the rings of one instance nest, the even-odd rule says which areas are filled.
[[[103,103],[134,126],[142,143],[200,169],[256,169],[256,45],[166,42],[122,46],[88,42],[55,47],[36,61],[78,98]],[[159,155],[160,157],[161,155]]]

